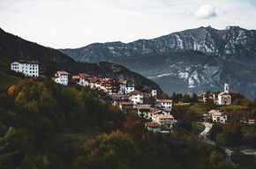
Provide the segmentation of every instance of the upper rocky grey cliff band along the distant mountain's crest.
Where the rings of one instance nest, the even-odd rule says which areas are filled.
[[[83,48],[59,49],[79,62],[108,61],[115,57],[132,55],[161,55],[167,53],[200,51],[207,55],[219,55],[233,62],[256,63],[256,31],[238,26],[216,30],[210,26],[190,29],[131,43],[94,43]]]

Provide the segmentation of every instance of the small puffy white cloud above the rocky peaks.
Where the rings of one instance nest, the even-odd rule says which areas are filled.
[[[210,5],[201,5],[200,9],[195,12],[196,18],[215,18],[217,17],[217,14],[215,12],[215,8]]]

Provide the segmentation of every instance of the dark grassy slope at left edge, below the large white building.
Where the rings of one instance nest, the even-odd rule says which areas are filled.
[[[13,84],[18,84],[20,78],[0,72],[0,92],[7,92]]]

